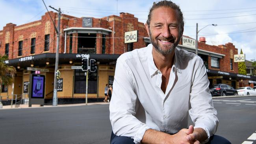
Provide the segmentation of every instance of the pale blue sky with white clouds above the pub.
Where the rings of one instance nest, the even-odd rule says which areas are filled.
[[[145,23],[155,0],[44,0],[48,6],[74,17],[101,18],[121,12],[134,14]],[[173,0],[183,12],[184,35],[198,39],[206,37],[206,44],[233,43],[245,54],[246,60],[256,60],[256,1],[255,0]],[[42,0],[0,0],[0,30],[7,23],[17,26],[40,20],[47,12]],[[209,25],[210,26],[207,26]],[[217,26],[211,26],[217,24]],[[206,26],[204,28],[204,26]]]

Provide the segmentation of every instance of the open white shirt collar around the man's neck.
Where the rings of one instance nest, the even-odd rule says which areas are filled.
[[[154,63],[154,59],[153,59],[153,55],[152,55],[152,48],[153,48],[152,44],[148,44],[148,46],[147,46],[148,70],[149,70],[149,74],[151,77],[153,77],[154,75],[156,75],[160,72]],[[179,68],[180,63],[177,59],[177,57],[179,57],[178,55],[179,55],[179,49],[175,48],[174,62],[173,62],[172,68],[173,68],[173,70],[176,70],[178,73],[182,73]]]

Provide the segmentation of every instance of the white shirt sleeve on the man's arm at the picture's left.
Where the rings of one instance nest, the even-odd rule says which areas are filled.
[[[133,138],[135,144],[139,144],[150,127],[135,117],[137,95],[133,87],[133,74],[121,57],[115,68],[109,118],[115,135]]]

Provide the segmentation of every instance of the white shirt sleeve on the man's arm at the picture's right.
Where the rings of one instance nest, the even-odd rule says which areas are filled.
[[[200,127],[206,131],[208,138],[205,142],[208,142],[210,136],[217,131],[219,121],[217,111],[213,107],[209,80],[202,59],[197,59],[193,72],[195,74],[191,85],[189,114],[195,128]]]

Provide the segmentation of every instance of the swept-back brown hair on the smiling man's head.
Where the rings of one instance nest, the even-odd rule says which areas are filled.
[[[147,20],[148,27],[149,27],[149,24],[150,24],[152,11],[154,9],[159,8],[159,7],[169,7],[171,9],[177,10],[178,15],[179,15],[180,30],[183,31],[183,29],[184,29],[184,17],[183,17],[183,14],[182,14],[181,10],[180,10],[180,7],[178,5],[176,5],[175,3],[171,2],[171,1],[167,1],[167,0],[163,0],[163,1],[160,1],[158,3],[156,3],[156,2],[153,3],[153,6],[150,8],[149,14],[148,14],[148,20]]]

